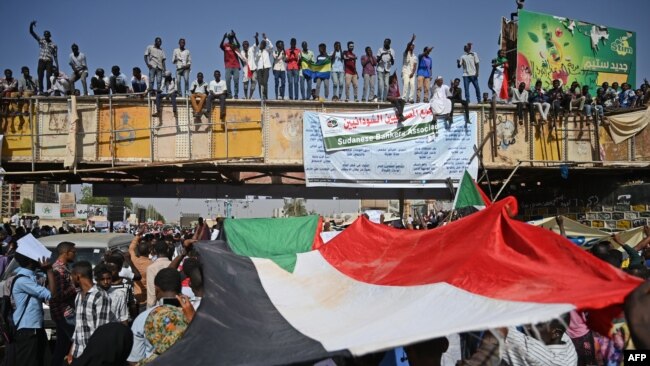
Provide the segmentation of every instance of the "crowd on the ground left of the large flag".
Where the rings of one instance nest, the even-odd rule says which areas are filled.
[[[144,365],[179,339],[203,296],[201,262],[193,244],[216,239],[220,223],[209,228],[199,219],[193,230],[159,231],[141,226],[128,250],[108,250],[101,262],[76,259],[75,243],[56,247],[56,261],[35,261],[16,252],[25,227],[4,226],[9,244],[3,268],[15,307],[14,332],[5,339],[7,365]],[[51,235],[48,233],[47,235]],[[47,280],[40,276],[45,274]],[[45,284],[46,283],[46,284]],[[50,351],[42,306],[56,324]],[[171,325],[170,325],[171,323]],[[2,330],[8,322],[1,322]],[[173,329],[170,328],[173,326]],[[108,341],[108,342],[107,342]]]

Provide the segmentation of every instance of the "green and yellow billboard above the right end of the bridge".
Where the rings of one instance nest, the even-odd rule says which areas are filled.
[[[636,33],[548,14],[519,11],[517,82],[577,81],[592,92],[604,81],[636,85]]]

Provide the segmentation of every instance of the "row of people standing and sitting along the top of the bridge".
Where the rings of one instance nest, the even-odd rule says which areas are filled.
[[[34,78],[30,74],[27,66],[21,68],[20,78],[15,78],[12,70],[6,69],[5,77],[0,79],[0,95],[3,97],[88,95],[90,92],[94,95],[151,94],[155,96],[154,116],[158,117],[158,125],[162,123],[161,102],[169,99],[174,116],[177,116],[178,96],[190,98],[197,121],[200,121],[203,115],[210,120],[209,111],[212,110],[213,103],[218,101],[220,117],[223,120],[226,114],[226,99],[240,98],[240,81],[243,99],[253,99],[257,90],[258,97],[265,100],[269,98],[271,75],[275,82],[276,99],[328,99],[331,80],[331,100],[389,101],[397,109],[400,120],[404,119],[402,111],[405,104],[430,102],[437,114],[450,115],[453,115],[454,104],[460,104],[467,122],[470,87],[474,88],[477,103],[489,102],[488,93],[481,95],[480,60],[478,54],[472,50],[472,43],[463,46],[463,53],[456,60],[456,66],[462,69],[462,88],[460,78],[453,78],[449,85],[444,85],[442,76],[434,78],[430,56],[433,47],[426,46],[417,54],[415,35],[401,53],[402,68],[397,70],[398,54],[392,48],[389,38],[384,40],[376,52],[373,52],[371,47],[365,47],[363,54],[358,56],[353,41],[346,43],[345,50],[341,42],[335,42],[331,52],[321,43],[317,53],[314,53],[305,41],[298,47],[297,40],[292,38],[289,47],[285,47],[284,41],[273,43],[265,33],[261,39],[256,33],[254,42],[240,42],[233,30],[226,32],[219,44],[225,65],[223,78],[220,70],[214,70],[213,80],[210,81],[204,78],[203,72],[198,72],[190,83],[192,56],[186,47],[186,40],[179,39],[178,48],[173,50],[173,70],[170,70],[166,52],[162,48],[162,39],[157,37],[152,45],[146,47],[144,53],[147,73],[143,73],[138,66],[132,68],[131,77],[127,77],[118,65],[111,67],[109,75],[106,75],[103,68],[97,68],[88,87],[90,69],[86,55],[80,51],[79,46],[74,43],[71,45],[68,76],[59,63],[58,46],[52,40],[51,33],[44,31],[40,36],[36,33],[35,26],[36,22],[33,21],[29,32],[39,44],[37,77]],[[312,65],[330,65],[330,68],[327,72],[313,72],[310,69]],[[491,62],[492,72],[488,82],[493,95],[499,94],[493,84],[495,72],[498,74],[503,71],[504,65],[507,68],[506,50],[499,50],[497,57]],[[361,66],[361,74],[358,72],[358,66]],[[398,73],[401,74],[401,88]],[[363,78],[363,85],[360,85],[360,77]],[[82,90],[76,89],[77,81],[81,82]],[[527,110],[531,123],[536,124],[537,112],[540,115],[539,122],[544,123],[549,117],[555,121],[559,116],[574,109],[589,118],[592,114],[602,116],[607,110],[647,106],[650,101],[649,86],[647,80],[636,90],[632,89],[629,83],[621,84],[619,89],[618,83],[610,85],[605,82],[592,95],[587,85],[581,87],[577,82],[573,82],[566,88],[557,79],[553,80],[552,87],[545,91],[542,82],[538,80],[529,88],[525,83],[510,85],[505,102],[516,105],[520,123],[523,123],[524,110]],[[20,109],[13,113],[25,112]]]

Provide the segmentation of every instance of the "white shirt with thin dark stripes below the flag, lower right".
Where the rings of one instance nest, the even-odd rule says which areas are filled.
[[[509,366],[577,366],[578,355],[568,335],[564,344],[546,345],[515,327],[508,328],[502,359]]]

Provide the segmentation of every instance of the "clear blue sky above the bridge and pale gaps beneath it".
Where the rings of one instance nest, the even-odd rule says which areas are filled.
[[[0,54],[0,67],[10,68],[17,75],[20,67],[27,65],[35,74],[38,45],[28,29],[29,23],[36,20],[38,34],[44,30],[52,33],[52,39],[59,46],[62,69],[68,74],[72,43],[77,43],[86,54],[91,73],[98,67],[110,70],[112,65],[119,65],[130,75],[134,66],[146,69],[145,48],[159,36],[169,61],[178,39],[187,40],[187,48],[192,53],[191,79],[199,71],[211,75],[215,69],[223,70],[219,42],[224,33],[234,29],[240,41],[252,42],[255,32],[260,35],[265,32],[271,41],[284,40],[287,45],[292,37],[298,43],[305,40],[312,50],[321,42],[331,51],[335,41],[342,44],[354,41],[357,55],[366,46],[376,52],[386,37],[393,40],[392,47],[399,55],[415,33],[416,50],[434,46],[431,54],[433,73],[449,80],[461,75],[456,59],[462,54],[465,43],[474,44],[473,50],[483,63],[494,57],[498,49],[500,19],[509,16],[515,8],[514,0],[307,3],[282,0],[4,0],[0,2],[0,14],[3,15],[0,34],[5,44]],[[650,62],[645,61],[650,59],[650,22],[647,20],[650,1],[528,0],[525,8],[637,32],[637,80],[650,76]],[[397,59],[397,66],[401,68],[401,57]],[[167,66],[171,68],[169,61]],[[482,72],[480,85],[484,90],[487,90],[487,78],[488,73]],[[167,217],[178,217],[179,211],[207,213],[204,200],[166,199],[155,200],[155,204]],[[338,204],[318,203],[316,209],[328,214]],[[350,207],[355,204],[358,207],[358,203],[353,202]],[[280,206],[281,201],[256,202],[252,209],[250,206],[242,209],[242,215],[252,211],[254,216],[255,213],[268,216],[273,207]]]

